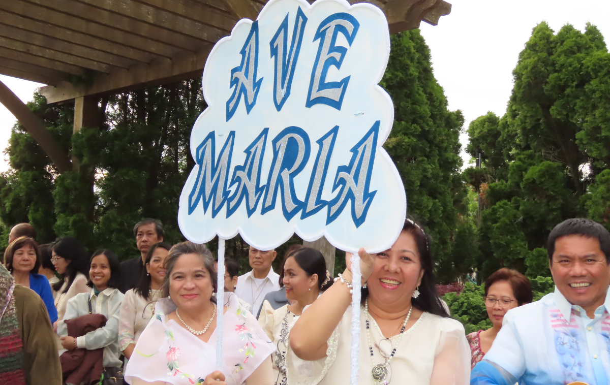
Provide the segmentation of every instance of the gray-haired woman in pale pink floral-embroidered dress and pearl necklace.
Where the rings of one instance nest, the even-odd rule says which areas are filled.
[[[275,350],[254,316],[227,292],[217,306],[212,253],[182,242],[165,259],[165,279],[154,316],[135,344],[125,379],[131,385],[269,385]],[[216,370],[217,312],[224,312],[222,370]]]

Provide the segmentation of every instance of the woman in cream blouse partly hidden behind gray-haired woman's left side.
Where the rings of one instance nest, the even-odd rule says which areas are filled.
[[[146,271],[142,271],[138,286],[125,293],[119,317],[118,339],[119,348],[127,359],[131,357],[135,343],[154,313],[159,289],[165,278],[163,262],[170,249],[171,245],[167,242],[152,245],[146,255]]]

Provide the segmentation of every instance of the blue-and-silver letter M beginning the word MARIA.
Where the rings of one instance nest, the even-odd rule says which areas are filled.
[[[218,154],[218,161],[215,160],[215,132],[207,134],[206,138],[199,144],[195,154],[195,161],[199,170],[193,190],[188,196],[188,214],[192,214],[203,197],[203,212],[207,212],[212,198],[212,218],[218,214],[227,199],[227,181],[229,168],[231,168],[231,155],[233,154],[233,144],[235,143],[235,131],[229,132],[223,148]]]

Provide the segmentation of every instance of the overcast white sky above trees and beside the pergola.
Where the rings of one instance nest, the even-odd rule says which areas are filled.
[[[447,0],[451,14],[436,27],[422,23],[432,53],[434,75],[445,89],[451,110],[462,110],[465,127],[493,111],[504,115],[512,90],[512,69],[523,44],[540,21],[555,31],[566,23],[584,30],[587,21],[610,37],[609,0]],[[1,76],[22,101],[32,100],[37,83]],[[13,115],[0,104],[0,149],[7,146]],[[467,136],[462,135],[462,145]],[[8,169],[0,154],[0,172]],[[468,158],[464,154],[464,158]]]

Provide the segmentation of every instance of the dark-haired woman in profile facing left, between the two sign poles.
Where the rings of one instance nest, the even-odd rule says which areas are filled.
[[[259,316],[260,325],[276,346],[276,351],[271,356],[273,381],[276,385],[287,383],[286,353],[290,328],[303,313],[303,308],[313,303],[320,292],[327,288],[326,285],[330,284],[324,256],[310,247],[302,247],[287,255],[283,277],[286,298],[291,304],[273,309],[265,300]],[[300,362],[301,367],[304,364],[307,365]]]

